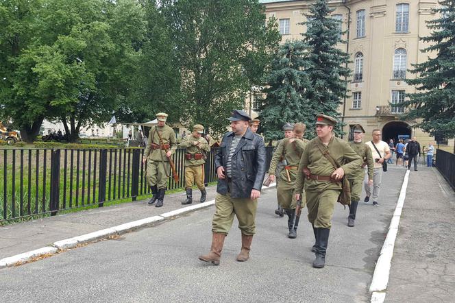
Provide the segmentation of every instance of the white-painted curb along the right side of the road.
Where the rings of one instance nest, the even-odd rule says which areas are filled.
[[[369,287],[371,293],[371,303],[382,303],[386,297],[386,288],[389,283],[390,268],[393,256],[393,249],[395,247],[395,240],[397,239],[399,219],[402,215],[404,199],[406,199],[406,189],[408,188],[410,171],[406,171],[402,184],[402,189],[399,192],[397,206],[393,212],[393,217],[389,226],[389,232],[387,232],[386,239],[382,245],[382,249],[376,262],[374,269],[373,279]]]

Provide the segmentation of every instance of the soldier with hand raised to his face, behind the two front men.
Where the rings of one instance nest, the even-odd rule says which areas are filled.
[[[297,238],[297,226],[299,226],[300,216],[295,217],[295,208],[297,201],[295,200],[294,187],[295,177],[300,158],[304,152],[307,140],[303,140],[306,125],[304,123],[295,123],[293,128],[294,137],[284,138],[278,144],[278,147],[273,153],[269,167],[269,178],[271,182],[275,180],[275,169],[282,160],[285,163],[284,169],[280,172],[280,183],[277,184],[277,199],[281,203],[284,213],[288,215],[288,237],[291,239]],[[295,217],[295,218],[294,218]],[[295,223],[294,223],[295,220]]]

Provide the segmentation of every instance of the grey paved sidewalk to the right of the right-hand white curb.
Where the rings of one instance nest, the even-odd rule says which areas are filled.
[[[386,302],[454,302],[455,193],[436,168],[410,171]]]

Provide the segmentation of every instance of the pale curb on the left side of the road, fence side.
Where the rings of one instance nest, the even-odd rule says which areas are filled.
[[[262,186],[262,190],[264,189],[271,189],[276,186],[276,183],[270,184],[270,186]],[[38,248],[38,250],[32,250],[29,252],[23,252],[22,254],[16,254],[14,256],[10,256],[7,258],[3,258],[0,260],[0,269],[4,267],[10,267],[13,265],[20,265],[23,263],[27,263],[34,258],[39,256],[49,255],[49,254],[56,254],[58,252],[62,252],[64,250],[68,250],[77,245],[84,244],[84,243],[92,243],[97,242],[103,239],[108,239],[109,237],[125,234],[126,232],[132,232],[139,228],[146,228],[154,223],[159,223],[162,221],[167,221],[173,219],[175,217],[185,215],[187,213],[193,213],[196,210],[208,208],[215,204],[215,200],[212,199],[208,202],[195,204],[191,206],[186,206],[184,208],[179,208],[176,210],[171,210],[170,212],[163,213],[161,215],[156,215],[153,217],[147,217],[144,219],[131,221],[127,223],[123,223],[118,226],[113,226],[112,228],[105,228],[103,230],[97,230],[96,232],[90,232],[88,234],[82,234],[77,237],[72,237],[69,239],[64,239],[60,241],[56,241],[52,243],[52,246],[46,246]]]

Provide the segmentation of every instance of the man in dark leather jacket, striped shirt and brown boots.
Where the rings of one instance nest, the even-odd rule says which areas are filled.
[[[234,110],[232,132],[223,136],[215,156],[218,175],[216,211],[212,221],[212,246],[210,252],[199,260],[219,265],[224,239],[229,232],[234,215],[242,232],[242,248],[238,261],[249,258],[253,235],[256,232],[256,209],[265,175],[265,145],[260,136],[249,130],[251,118],[243,110]]]

